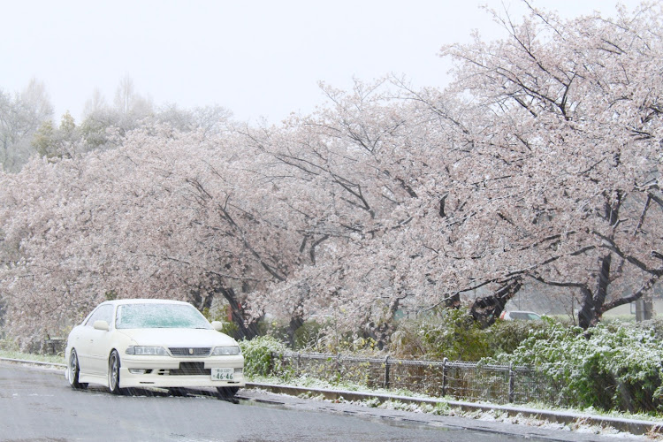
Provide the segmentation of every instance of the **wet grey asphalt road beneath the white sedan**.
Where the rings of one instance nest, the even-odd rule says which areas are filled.
[[[184,397],[157,390],[113,396],[92,386],[73,391],[62,370],[0,362],[0,440],[605,440],[251,390],[240,390],[238,397],[233,403],[218,399],[212,390],[190,391]]]

